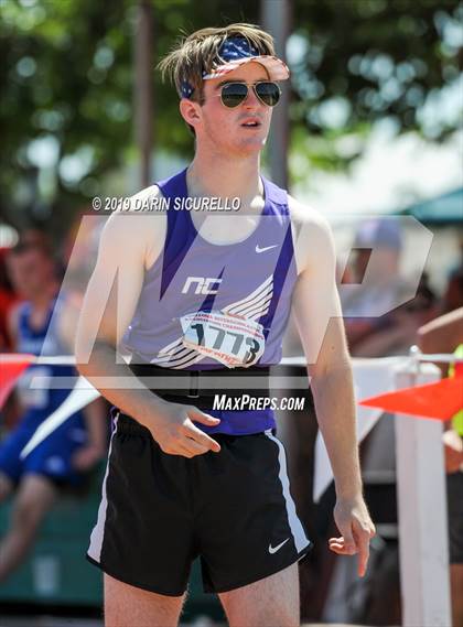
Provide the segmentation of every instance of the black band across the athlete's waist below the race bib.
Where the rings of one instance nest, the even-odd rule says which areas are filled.
[[[180,370],[154,364],[130,364],[132,372],[153,392],[174,402],[212,407],[217,393],[240,398],[269,396],[269,366],[217,368],[214,370]]]

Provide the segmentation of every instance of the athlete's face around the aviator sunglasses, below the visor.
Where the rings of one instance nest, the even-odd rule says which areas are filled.
[[[227,108],[222,102],[220,88],[234,80],[246,83],[248,95],[237,107]],[[267,71],[259,63],[251,62],[219,78],[204,82],[204,105],[196,105],[198,117],[194,123],[196,140],[202,148],[241,155],[263,148],[272,109],[263,105],[250,87],[261,80],[269,80]],[[246,122],[257,122],[257,126],[245,126]]]

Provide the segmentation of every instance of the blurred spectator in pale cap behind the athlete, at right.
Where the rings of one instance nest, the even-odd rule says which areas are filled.
[[[437,299],[422,274],[416,296],[400,273],[402,236],[394,218],[368,220],[356,234],[349,282],[358,290],[342,298],[349,349],[355,357],[385,357],[408,352],[419,326],[437,313]],[[374,251],[374,252],[373,252]],[[368,280],[365,275],[368,270]],[[343,281],[345,283],[345,280]],[[383,315],[375,312],[388,311]]]

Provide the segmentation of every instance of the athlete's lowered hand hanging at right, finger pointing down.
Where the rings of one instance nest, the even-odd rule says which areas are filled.
[[[338,555],[358,553],[358,575],[363,577],[368,564],[369,541],[376,534],[364,498],[338,498],[334,508],[334,521],[341,538],[330,538],[330,549]]]

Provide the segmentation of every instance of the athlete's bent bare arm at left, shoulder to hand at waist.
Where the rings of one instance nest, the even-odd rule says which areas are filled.
[[[154,394],[118,353],[141,293],[147,259],[162,250],[165,223],[162,215],[129,213],[108,219],[77,326],[76,366],[109,402],[147,426],[164,453],[193,457],[220,450],[193,421],[209,426],[219,421],[193,406],[170,403]],[[153,233],[155,237],[149,239]]]

